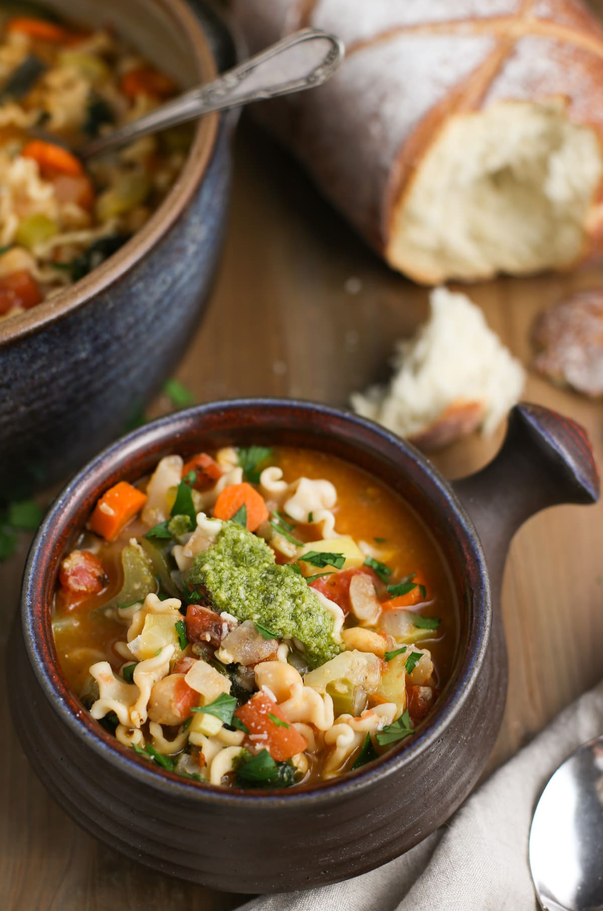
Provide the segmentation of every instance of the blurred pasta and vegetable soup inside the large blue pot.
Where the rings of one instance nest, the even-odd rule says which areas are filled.
[[[128,240],[184,163],[191,128],[77,157],[177,87],[110,29],[0,7],[0,318],[36,306]],[[41,138],[43,136],[43,138]],[[69,149],[74,149],[72,153]]]

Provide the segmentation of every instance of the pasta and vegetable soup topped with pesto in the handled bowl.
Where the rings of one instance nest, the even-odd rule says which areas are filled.
[[[168,455],[111,487],[54,610],[92,718],[141,760],[222,787],[378,761],[433,711],[457,641],[420,518],[360,469],[285,447]]]

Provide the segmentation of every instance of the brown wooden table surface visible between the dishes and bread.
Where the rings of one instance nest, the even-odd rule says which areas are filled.
[[[528,327],[535,314],[573,289],[601,284],[603,270],[591,269],[501,279],[468,290],[528,364]],[[393,340],[424,319],[427,296],[388,271],[291,160],[243,124],[219,281],[178,376],[200,402],[277,394],[345,405],[353,390],[385,375]],[[585,425],[600,462],[600,404],[533,375],[526,398]],[[483,465],[498,442],[472,436],[434,461],[446,476],[461,476]],[[503,591],[510,685],[491,768],[603,676],[602,519],[603,505],[558,507],[530,520],[516,536]],[[15,558],[0,566],[4,638],[25,552],[24,539]],[[29,769],[4,690],[0,731],[0,908],[199,911],[240,904],[240,896],[147,872],[77,829]]]

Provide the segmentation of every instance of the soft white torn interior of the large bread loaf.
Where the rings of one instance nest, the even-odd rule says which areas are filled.
[[[450,118],[393,211],[386,255],[428,283],[577,260],[603,171],[594,130],[562,101]]]

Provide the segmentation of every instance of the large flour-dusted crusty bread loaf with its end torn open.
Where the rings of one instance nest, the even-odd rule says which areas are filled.
[[[251,51],[337,33],[324,86],[262,106],[323,192],[416,281],[603,250],[603,28],[578,0],[233,0]]]

